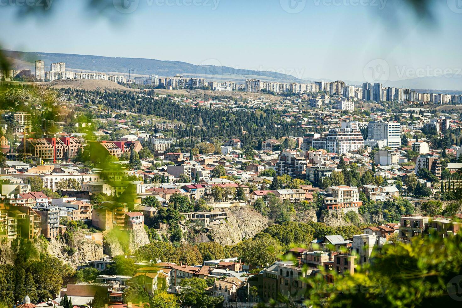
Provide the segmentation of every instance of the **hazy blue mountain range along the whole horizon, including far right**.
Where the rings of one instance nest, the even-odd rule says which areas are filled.
[[[307,78],[299,79],[292,75],[279,72],[255,71],[238,69],[229,66],[194,65],[181,61],[164,61],[142,58],[114,58],[98,55],[82,54],[52,54],[42,52],[22,52],[3,49],[4,54],[10,58],[16,69],[34,70],[35,60],[44,60],[45,67],[52,62],[66,62],[66,68],[73,71],[105,72],[111,74],[123,74],[147,76],[155,74],[161,77],[170,77],[182,74],[185,77],[201,77],[214,81],[235,81],[244,83],[245,79],[261,79],[273,82],[298,82],[308,83],[313,81],[332,81],[332,79]],[[344,80],[347,85],[361,86],[363,81]],[[462,75],[452,77],[422,77],[414,79],[402,79],[397,81],[381,81],[383,86],[397,88],[411,88],[420,93],[445,93],[462,94]]]

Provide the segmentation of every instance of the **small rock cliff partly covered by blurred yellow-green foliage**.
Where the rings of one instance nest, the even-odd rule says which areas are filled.
[[[104,254],[113,257],[133,253],[136,249],[149,244],[145,229],[124,231],[113,229],[104,234]]]

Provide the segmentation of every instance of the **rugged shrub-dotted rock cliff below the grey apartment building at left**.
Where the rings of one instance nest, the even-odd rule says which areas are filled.
[[[74,268],[79,265],[79,262],[103,258],[103,246],[95,243],[91,236],[81,230],[73,232],[71,240],[66,241],[64,237],[61,237],[58,240],[51,240],[46,246],[46,251],[50,255]]]

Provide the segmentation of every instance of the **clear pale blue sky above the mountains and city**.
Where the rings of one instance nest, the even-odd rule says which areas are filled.
[[[0,45],[19,51],[177,60],[300,79],[462,74],[461,0],[0,0]],[[120,6],[124,1],[125,6]],[[433,3],[434,2],[434,3]],[[113,5],[115,3],[115,5]],[[459,4],[459,6],[457,5]]]

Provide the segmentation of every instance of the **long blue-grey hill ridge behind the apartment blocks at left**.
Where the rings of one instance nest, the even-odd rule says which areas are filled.
[[[114,58],[97,55],[81,54],[51,54],[40,52],[22,52],[5,50],[5,55],[12,60],[13,66],[22,69],[34,69],[35,60],[44,60],[45,67],[52,62],[66,62],[70,70],[85,70],[92,72],[118,73],[128,76],[128,69],[132,75],[174,76],[182,74],[185,77],[203,77],[206,79],[233,80],[243,82],[245,79],[258,78],[277,82],[306,82],[294,76],[279,72],[255,71],[237,69],[229,66],[194,65],[181,61],[163,61],[141,58]]]

